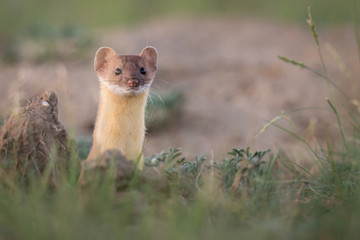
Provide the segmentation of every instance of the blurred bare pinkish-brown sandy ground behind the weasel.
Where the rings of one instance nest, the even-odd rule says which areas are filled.
[[[321,29],[320,41],[338,50],[359,76],[359,61],[351,26]],[[88,58],[77,63],[0,66],[0,113],[18,100],[44,90],[60,99],[60,119],[76,133],[91,134],[98,103],[98,81],[93,55],[100,46],[121,54],[139,53],[146,45],[159,52],[153,89],[182,89],[186,96],[181,119],[161,132],[148,134],[146,154],[181,147],[186,155],[223,156],[232,147],[272,148],[297,144],[289,135],[269,128],[255,138],[268,120],[306,107],[327,107],[326,82],[315,74],[285,64],[277,55],[302,61],[321,71],[314,40],[304,24],[279,24],[249,19],[159,20],[127,29],[104,30]],[[349,94],[357,86],[338,70],[323,48],[331,79]],[[358,80],[358,79],[356,79]],[[356,86],[356,87],[354,87]],[[317,121],[320,137],[336,131],[326,110],[303,110],[289,115],[299,131]],[[286,125],[284,120],[279,123]]]

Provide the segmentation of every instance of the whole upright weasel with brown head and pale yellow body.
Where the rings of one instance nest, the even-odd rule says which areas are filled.
[[[157,69],[157,52],[146,47],[140,55],[118,55],[108,47],[95,55],[94,67],[100,81],[100,103],[87,161],[108,149],[118,149],[139,161],[145,138],[145,106]]]

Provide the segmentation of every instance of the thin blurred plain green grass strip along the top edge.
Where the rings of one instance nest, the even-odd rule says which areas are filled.
[[[311,2],[314,14],[322,23],[352,20],[352,0]],[[173,16],[255,15],[302,22],[306,17],[306,10],[303,8],[306,3],[307,0],[0,0],[0,40],[9,40],[9,36],[22,34],[31,26],[39,24],[92,29]]]

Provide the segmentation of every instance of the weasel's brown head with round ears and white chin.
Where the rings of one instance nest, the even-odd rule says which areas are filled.
[[[133,96],[147,90],[155,77],[157,51],[146,47],[139,55],[118,55],[109,47],[100,48],[94,67],[99,81],[112,92]]]

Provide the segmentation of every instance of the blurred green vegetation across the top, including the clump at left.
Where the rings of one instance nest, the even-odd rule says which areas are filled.
[[[306,16],[303,6],[307,1],[0,0],[0,56],[5,63],[70,61],[81,57],[88,49],[94,40],[94,30],[152,19],[255,16],[281,22],[303,22]],[[352,2],[355,1],[311,2],[320,23],[337,24],[353,20],[352,11],[356,7]],[[69,49],[77,51],[69,53]]]

